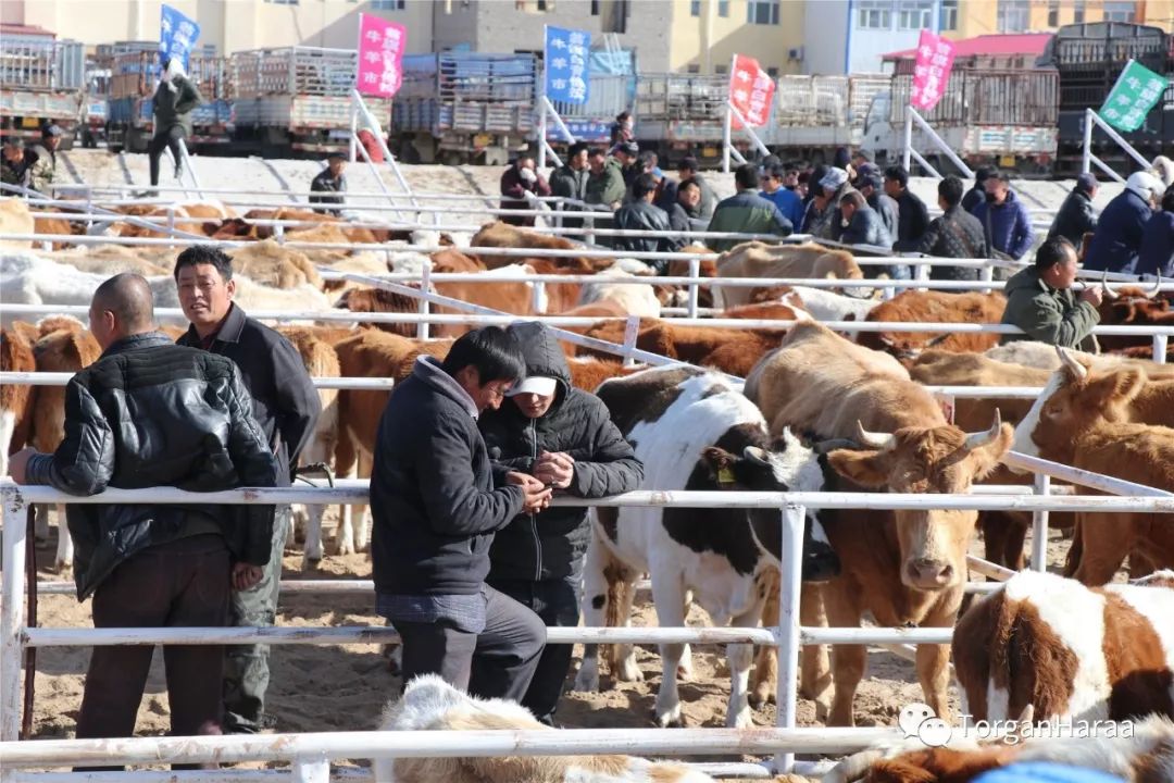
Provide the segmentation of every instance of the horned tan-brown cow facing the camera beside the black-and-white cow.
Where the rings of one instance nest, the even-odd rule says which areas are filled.
[[[964,493],[994,470],[1013,436],[998,418],[986,432],[966,433],[949,424],[937,400],[892,357],[815,323],[801,323],[788,332],[780,349],[748,377],[747,396],[762,409],[775,436],[789,426],[816,438],[856,439],[861,451],[836,450],[828,455],[846,488]],[[882,626],[953,625],[974,512],[823,512],[823,518],[843,563],[841,576],[822,588],[832,626],[859,626],[866,610]],[[811,613],[811,602],[804,603],[804,613]],[[922,644],[917,660],[926,703],[947,717],[949,648]],[[835,647],[831,724],[852,724],[852,700],[864,663],[862,644]],[[804,682],[824,680],[811,666],[809,656]]]

